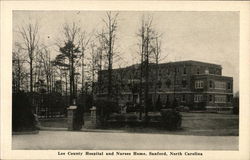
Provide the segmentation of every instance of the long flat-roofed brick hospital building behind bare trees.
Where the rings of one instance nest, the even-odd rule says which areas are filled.
[[[199,106],[209,109],[231,109],[233,99],[233,78],[222,76],[222,66],[199,61],[178,61],[161,64],[149,64],[149,99],[155,103],[170,103],[176,99],[182,106]],[[143,68],[143,67],[142,67]],[[141,66],[132,65],[113,69],[113,93],[117,94],[118,102],[138,103],[141,84]],[[143,77],[143,76],[142,76]],[[98,73],[100,86],[98,96],[107,94],[108,71]],[[145,80],[142,79],[142,84]],[[143,86],[143,85],[142,85]],[[142,94],[143,94],[143,88]]]

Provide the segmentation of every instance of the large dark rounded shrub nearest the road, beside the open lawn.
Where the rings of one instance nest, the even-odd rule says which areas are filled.
[[[182,116],[174,109],[161,110],[162,127],[167,130],[176,130],[181,127]]]

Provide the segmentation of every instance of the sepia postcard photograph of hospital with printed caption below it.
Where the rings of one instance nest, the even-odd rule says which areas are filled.
[[[10,149],[73,159],[239,151],[240,15],[12,10]]]

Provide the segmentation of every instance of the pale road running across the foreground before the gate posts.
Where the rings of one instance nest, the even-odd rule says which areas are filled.
[[[237,150],[237,136],[40,131],[13,135],[12,149],[32,150]]]

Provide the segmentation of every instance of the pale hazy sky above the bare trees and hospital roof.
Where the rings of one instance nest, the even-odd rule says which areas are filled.
[[[222,74],[233,77],[234,92],[239,90],[239,12],[120,11],[115,44],[126,65],[137,63],[136,34],[143,14],[153,17],[153,27],[162,34],[162,57],[167,56],[163,62],[220,64]],[[95,33],[103,27],[104,18],[104,11],[13,11],[13,41],[18,41],[18,27],[37,21],[41,42],[51,46],[56,56],[55,41],[62,38],[65,23],[76,22],[87,33]]]

